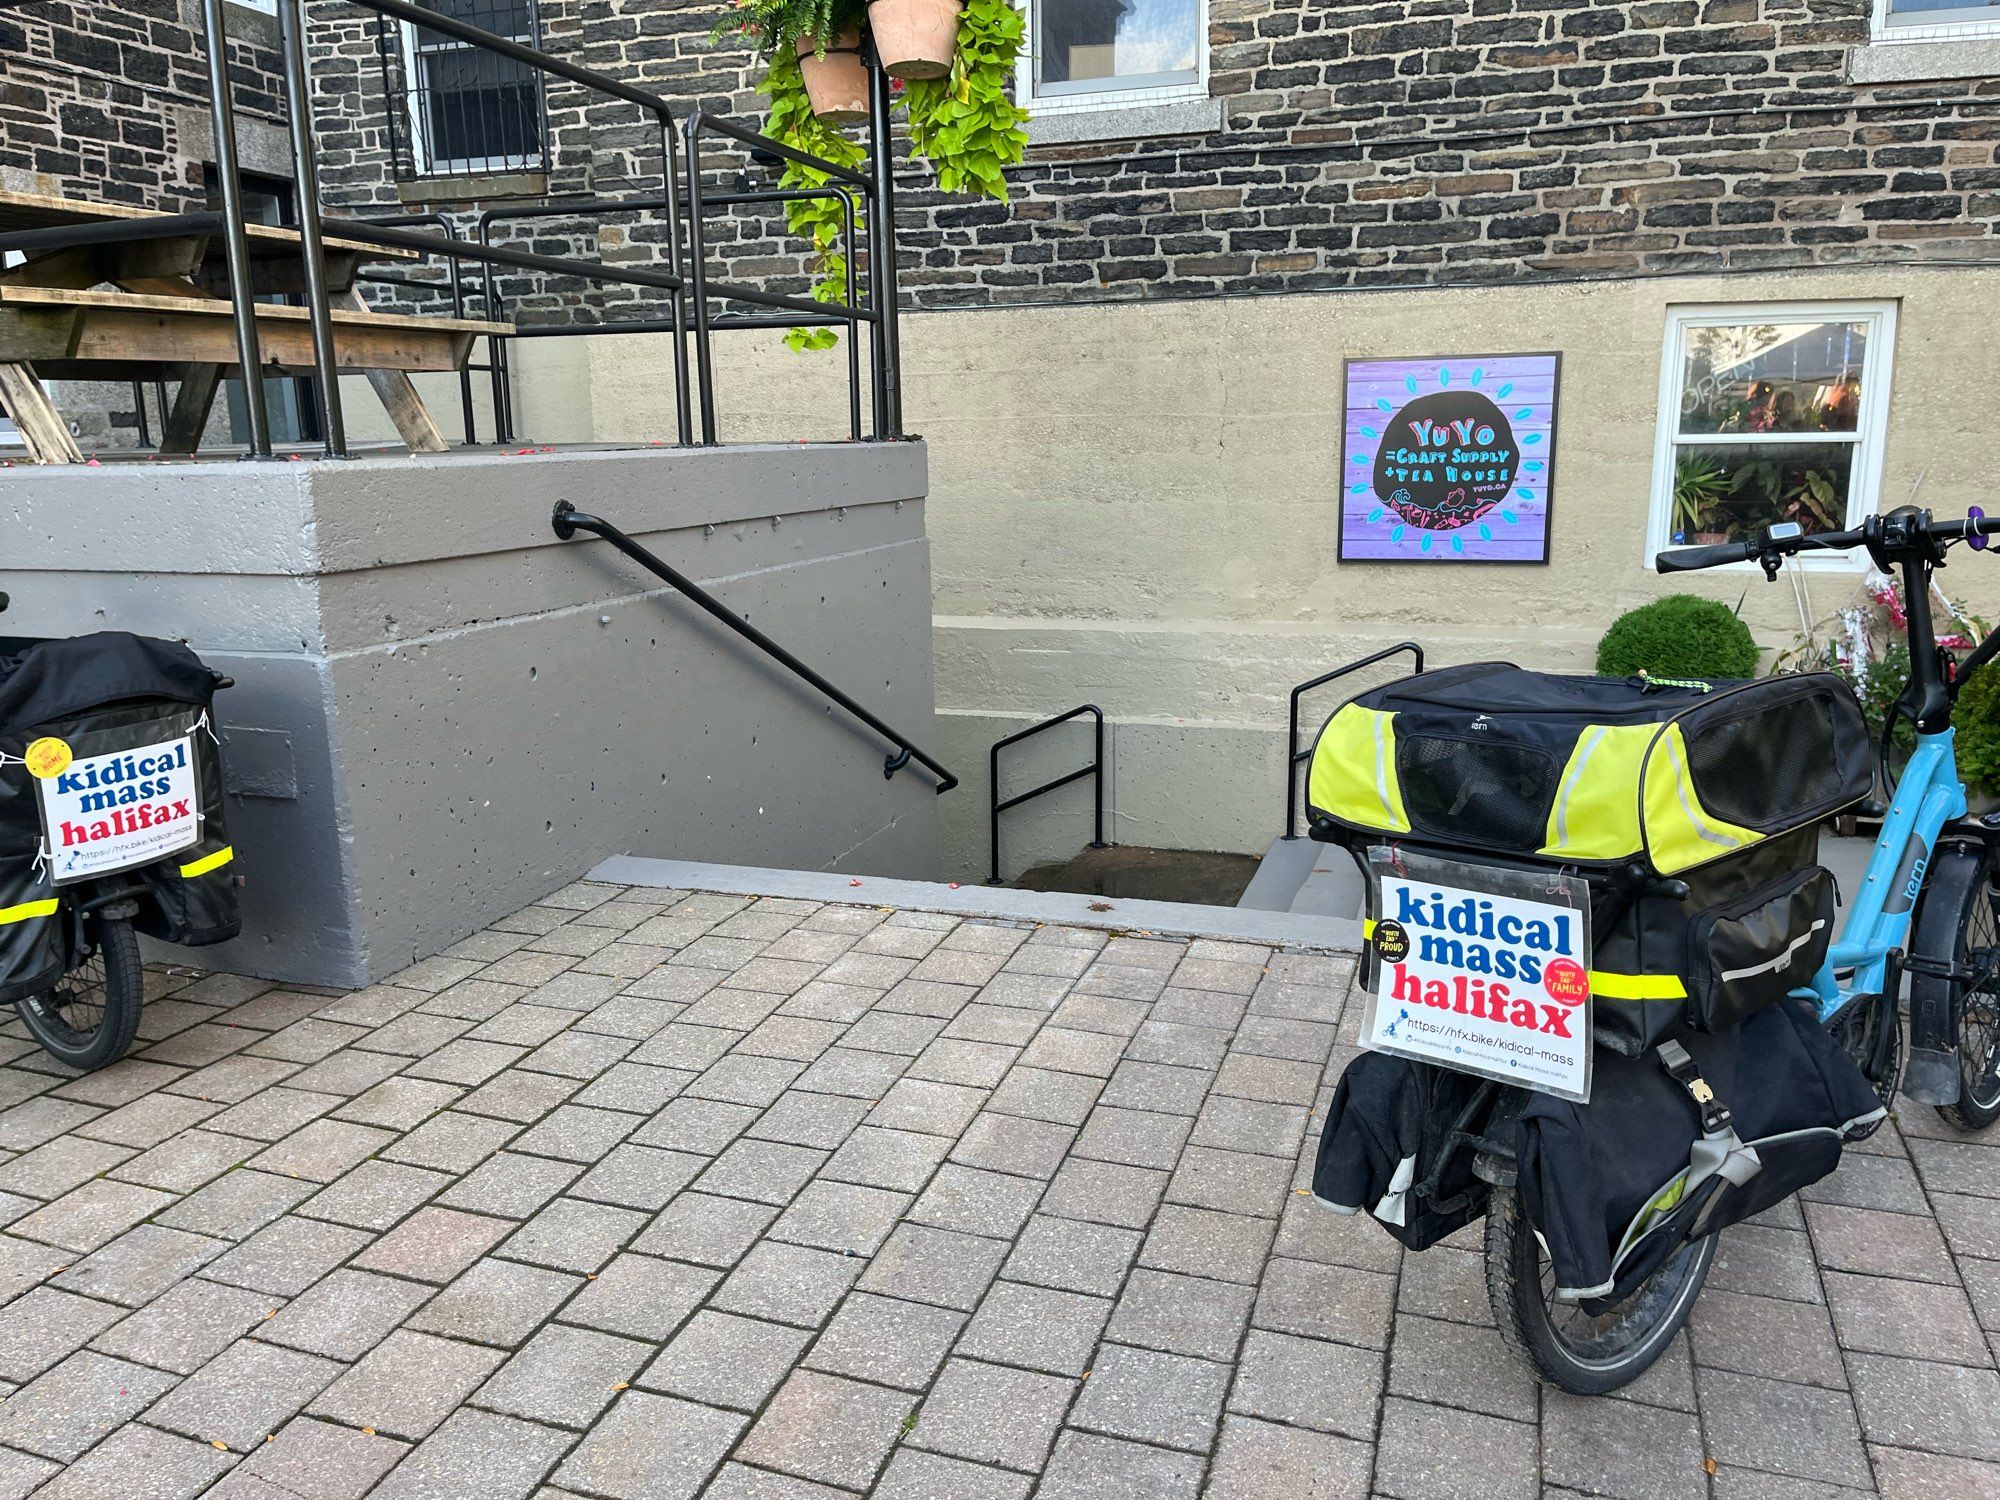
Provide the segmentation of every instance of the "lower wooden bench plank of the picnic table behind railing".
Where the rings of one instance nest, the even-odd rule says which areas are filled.
[[[472,342],[512,324],[334,308],[342,370],[462,370]],[[306,308],[258,304],[266,374],[312,374]],[[158,380],[166,366],[236,366],[236,326],[224,298],[0,286],[0,364],[32,364],[46,380]]]

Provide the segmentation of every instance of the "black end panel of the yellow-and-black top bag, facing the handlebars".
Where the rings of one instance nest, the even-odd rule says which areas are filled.
[[[1814,694],[1784,714],[1740,714],[1688,740],[1694,794],[1740,828],[1778,828],[1800,810],[1838,802],[1844,778],[1834,752],[1834,706]]]

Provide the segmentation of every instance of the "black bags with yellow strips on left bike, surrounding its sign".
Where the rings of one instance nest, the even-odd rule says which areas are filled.
[[[72,922],[46,848],[26,748],[64,740],[76,758],[190,736],[200,836],[124,876],[142,890],[140,932],[224,942],[242,926],[222,764],[210,720],[216,676],[186,646],[124,632],[0,638],[0,1002],[48,990],[72,966]]]

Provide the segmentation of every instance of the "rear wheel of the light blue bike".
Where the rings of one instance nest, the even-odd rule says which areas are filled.
[[[1592,1316],[1556,1296],[1556,1274],[1516,1188],[1486,1210],[1486,1294],[1504,1338],[1542,1380],[1602,1396],[1638,1380],[1688,1320],[1708,1280],[1716,1236],[1684,1246],[1618,1306]]]

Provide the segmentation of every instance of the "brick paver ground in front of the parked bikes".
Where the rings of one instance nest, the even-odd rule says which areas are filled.
[[[862,892],[856,892],[862,896]],[[1338,954],[580,884],[0,1032],[0,1498],[2000,1496],[2000,1138],[1732,1232],[1618,1398],[1304,1196]]]

